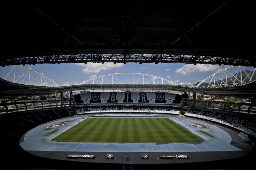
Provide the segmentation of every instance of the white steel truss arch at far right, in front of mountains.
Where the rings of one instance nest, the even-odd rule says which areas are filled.
[[[256,78],[254,76],[255,70],[256,68],[245,70],[241,65],[228,67],[210,75],[196,87],[243,84]]]

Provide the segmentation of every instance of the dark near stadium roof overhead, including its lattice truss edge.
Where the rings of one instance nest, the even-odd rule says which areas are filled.
[[[1,65],[180,62],[255,66],[240,1],[18,1]],[[149,55],[146,55],[149,54]],[[187,56],[189,55],[189,56]]]

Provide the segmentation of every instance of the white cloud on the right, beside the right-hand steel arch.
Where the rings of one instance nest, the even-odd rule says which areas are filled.
[[[217,71],[221,66],[211,64],[187,64],[181,68],[177,68],[174,72],[186,76],[193,72]]]

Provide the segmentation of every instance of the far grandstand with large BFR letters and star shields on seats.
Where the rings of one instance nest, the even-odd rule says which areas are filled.
[[[171,100],[170,96],[172,96],[173,100]],[[74,96],[74,99],[75,114],[114,112],[166,113],[178,115],[181,109],[181,95],[174,95],[168,93],[89,92],[77,94]]]

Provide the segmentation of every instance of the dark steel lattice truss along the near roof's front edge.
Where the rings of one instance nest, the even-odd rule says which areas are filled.
[[[193,52],[193,51],[192,51]],[[190,52],[190,53],[192,53]],[[174,50],[175,53],[175,50]],[[181,54],[133,54],[133,53],[84,53],[84,54],[56,54],[31,57],[17,57],[13,59],[0,59],[0,65],[20,65],[20,64],[56,64],[56,63],[84,63],[84,62],[138,62],[138,63],[200,63],[200,64],[224,64],[224,65],[244,65],[255,66],[256,63],[250,58],[235,57],[210,57],[200,55]]]

